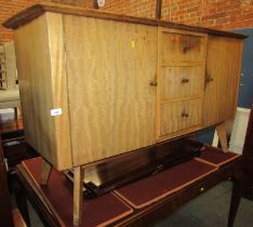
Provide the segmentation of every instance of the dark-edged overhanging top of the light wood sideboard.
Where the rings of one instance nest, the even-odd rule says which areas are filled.
[[[52,3],[52,2],[43,2],[43,3],[35,4],[17,13],[13,17],[9,18],[2,25],[6,28],[16,29],[21,27],[22,25],[25,25],[26,23],[42,15],[45,12],[94,17],[94,18],[102,18],[102,19],[110,19],[110,21],[118,21],[118,22],[125,22],[125,23],[136,23],[136,24],[144,24],[144,25],[150,25],[150,26],[161,26],[161,27],[167,27],[167,28],[185,29],[185,30],[190,30],[190,31],[205,32],[205,34],[211,34],[211,35],[216,35],[216,36],[234,37],[234,38],[239,38],[239,39],[247,38],[247,36],[244,35],[234,34],[234,32],[228,32],[228,31],[223,31],[223,30],[176,24],[176,23],[155,19],[155,18],[128,16],[128,15],[109,13],[109,12],[98,11],[98,10],[86,10],[80,6],[71,6],[67,4],[58,4],[58,3]]]

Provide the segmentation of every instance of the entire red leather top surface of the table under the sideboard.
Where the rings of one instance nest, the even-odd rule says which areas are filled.
[[[238,158],[207,147],[199,159],[172,166],[156,175],[123,186],[114,192],[83,201],[82,226],[105,226],[142,209],[215,172],[221,165]],[[40,186],[41,159],[23,162],[28,175],[59,222],[72,225],[72,185],[63,173],[52,170],[48,186]],[[120,198],[118,198],[120,197]],[[131,208],[132,206],[132,208]]]

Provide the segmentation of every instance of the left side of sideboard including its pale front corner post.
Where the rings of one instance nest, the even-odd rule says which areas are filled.
[[[62,16],[46,13],[14,38],[26,141],[56,169],[71,168]]]

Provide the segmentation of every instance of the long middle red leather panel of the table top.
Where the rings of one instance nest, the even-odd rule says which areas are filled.
[[[151,204],[217,170],[214,165],[190,160],[154,176],[121,187],[115,192],[133,208]]]

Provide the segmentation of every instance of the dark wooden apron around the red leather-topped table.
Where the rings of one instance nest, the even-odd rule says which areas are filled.
[[[224,164],[215,172],[183,187],[171,196],[141,210],[134,210],[129,216],[114,223],[114,226],[150,226],[218,183],[227,181],[229,177],[236,177],[241,171],[241,162],[242,159],[239,157],[234,161]],[[17,176],[17,185],[15,187],[17,205],[27,223],[29,223],[26,204],[26,200],[28,199],[45,226],[59,226],[54,213],[49,212],[41,198],[36,193],[31,181],[27,179],[25,176],[24,166],[17,165],[15,171]],[[230,221],[228,223],[229,226],[232,226]]]

